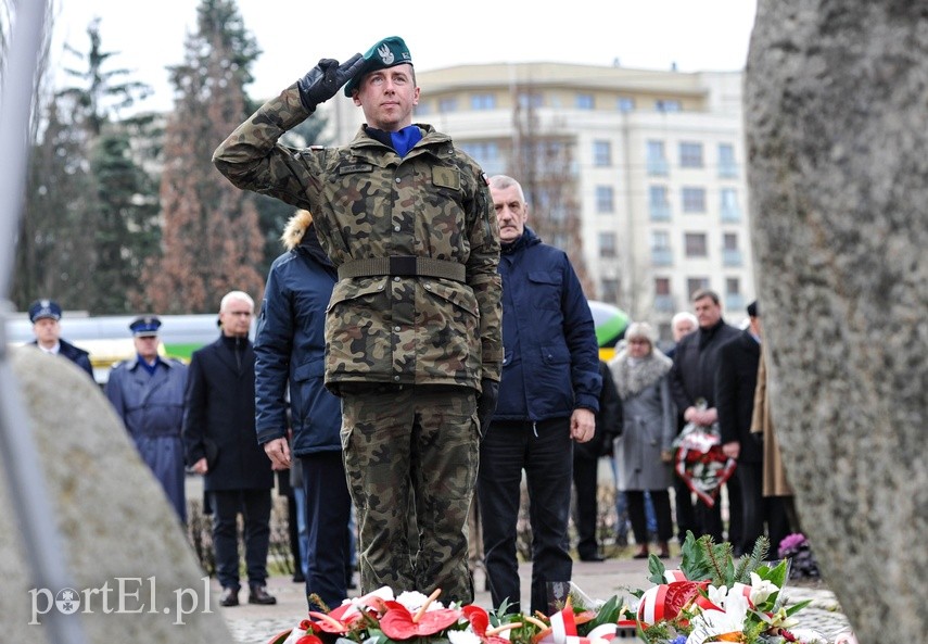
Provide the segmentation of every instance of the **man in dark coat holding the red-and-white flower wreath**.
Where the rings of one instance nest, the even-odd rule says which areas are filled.
[[[719,368],[719,348],[740,332],[722,319],[719,294],[709,289],[692,293],[692,308],[699,330],[681,338],[670,371],[671,393],[684,420],[710,427],[717,422],[715,408],[715,371]],[[741,534],[741,495],[737,479],[728,479],[728,534]],[[722,504],[707,507],[696,503],[696,534],[710,534],[716,543],[722,539]],[[685,535],[681,535],[683,538]],[[737,540],[736,540],[737,541]],[[738,554],[740,544],[733,542]]]

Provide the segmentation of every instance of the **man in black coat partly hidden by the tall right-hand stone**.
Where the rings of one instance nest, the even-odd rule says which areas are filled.
[[[767,525],[772,550],[786,536],[786,512],[778,497],[763,493],[763,437],[751,433],[758,366],[761,361],[761,318],[758,303],[748,305],[750,324],[719,349],[719,370],[715,372],[715,407],[722,452],[738,462],[735,476],[741,485],[743,523],[741,534],[729,535],[736,550],[750,553]],[[777,540],[777,541],[774,541]]]

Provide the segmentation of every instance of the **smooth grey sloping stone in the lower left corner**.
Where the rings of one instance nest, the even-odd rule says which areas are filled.
[[[203,579],[177,515],[99,388],[64,358],[31,348],[12,348],[10,357],[31,418],[71,578],[81,593],[80,608],[63,619],[79,619],[90,643],[232,641],[218,613],[218,596],[205,590],[208,579]],[[2,488],[9,490],[5,482]],[[47,626],[29,623],[42,617],[34,616],[34,582],[9,492],[0,495],[0,641],[50,641]],[[119,579],[125,580],[123,593]],[[110,589],[107,606],[105,591],[89,598],[82,594],[104,588]],[[58,594],[61,589],[49,590]],[[178,591],[185,610],[196,602],[189,615],[177,609]],[[48,607],[42,595],[35,596],[39,610]]]

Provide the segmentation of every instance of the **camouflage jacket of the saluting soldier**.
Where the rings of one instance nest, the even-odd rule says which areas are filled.
[[[327,387],[498,381],[499,229],[480,166],[428,125],[404,157],[364,128],[345,147],[278,143],[307,116],[291,86],[240,125],[213,162],[239,188],[312,212],[335,267],[395,256],[463,266],[460,280],[399,276],[392,266],[342,277],[327,310]]]

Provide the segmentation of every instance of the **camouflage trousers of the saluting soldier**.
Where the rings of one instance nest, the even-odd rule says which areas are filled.
[[[468,512],[476,483],[476,392],[342,388],[342,449],[357,509],[361,592],[382,585],[473,601]]]

